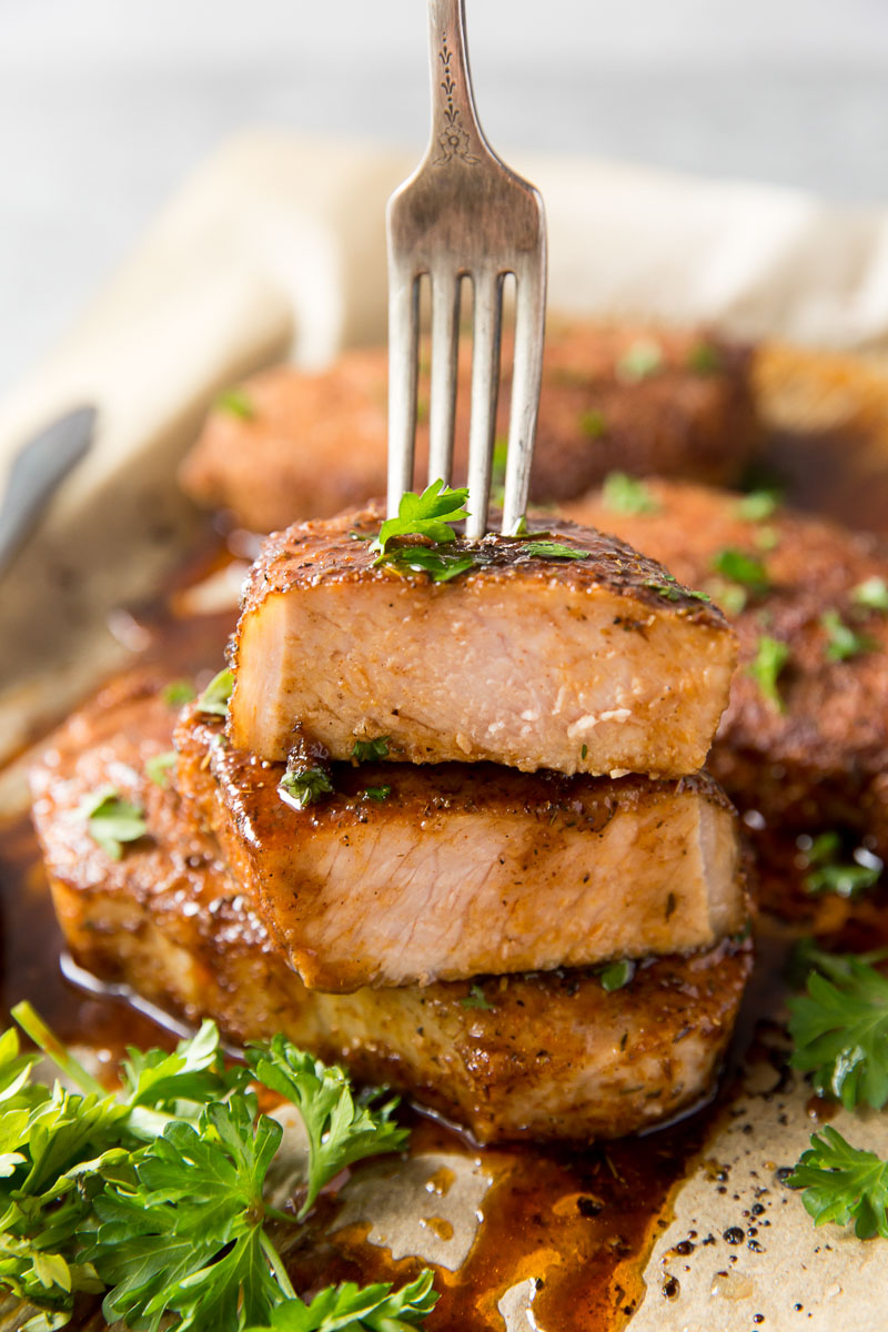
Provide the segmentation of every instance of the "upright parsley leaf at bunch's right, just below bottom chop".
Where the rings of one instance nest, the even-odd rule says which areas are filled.
[[[280,1035],[269,1043],[249,1046],[246,1060],[257,1080],[292,1100],[305,1123],[309,1184],[300,1220],[343,1167],[403,1147],[406,1130],[391,1123],[397,1096],[379,1102],[383,1094],[375,1092],[355,1102],[342,1068],[313,1059]]]

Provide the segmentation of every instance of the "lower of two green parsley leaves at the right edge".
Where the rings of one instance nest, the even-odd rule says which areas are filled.
[[[804,1189],[801,1201],[815,1225],[853,1220],[861,1240],[873,1235],[888,1239],[888,1162],[852,1147],[832,1124],[823,1135],[811,1135],[811,1147],[787,1183]]]

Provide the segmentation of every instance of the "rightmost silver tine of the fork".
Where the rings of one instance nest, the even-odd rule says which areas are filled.
[[[518,276],[515,301],[515,360],[509,418],[506,493],[502,530],[515,531],[527,507],[530,466],[534,457],[539,385],[543,374],[546,322],[546,265],[529,264]]]

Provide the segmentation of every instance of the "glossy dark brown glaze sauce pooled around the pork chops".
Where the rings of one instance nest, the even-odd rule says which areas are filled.
[[[809,441],[807,441],[809,442]],[[804,507],[819,507],[836,517],[861,498],[861,488],[849,492],[847,446],[820,441],[820,485],[812,489],[811,470],[801,469],[795,438],[775,441],[774,457],[789,478],[789,493]],[[821,458],[823,456],[823,458]],[[837,461],[837,456],[840,456]],[[825,461],[824,461],[825,460]],[[844,466],[843,466],[844,465]],[[843,468],[845,481],[831,486]],[[888,493],[888,466],[881,497]],[[853,488],[852,488],[853,489]],[[873,509],[867,486],[869,526],[885,526],[884,505]],[[839,511],[836,511],[839,510]],[[844,511],[843,511],[844,510]],[[141,607],[136,619],[149,630],[146,662],[162,661],[170,677],[214,671],[222,663],[233,615],[184,619],[176,615],[177,595],[206,577],[228,558],[224,543],[208,534],[206,542],[165,589],[164,597]],[[771,835],[768,830],[766,834]],[[785,850],[787,866],[792,848]],[[888,939],[888,912],[873,910],[860,939],[856,931],[836,922],[831,942],[844,947],[876,947]],[[43,872],[40,852],[27,817],[0,825],[0,947],[3,970],[0,998],[4,1011],[29,999],[69,1043],[81,1043],[103,1054],[109,1071],[126,1044],[170,1044],[173,1035],[120,998],[87,992],[67,982],[60,970],[61,936],[56,926]],[[767,955],[768,950],[763,950]],[[748,995],[774,986],[774,956],[756,964]],[[762,1014],[762,1003],[758,1004]],[[738,1024],[735,1052],[755,1044],[755,1014],[747,1008]],[[735,1059],[736,1059],[735,1054]],[[533,1316],[546,1332],[619,1332],[644,1299],[642,1280],[658,1232],[668,1224],[671,1200],[696,1159],[706,1164],[706,1144],[724,1114],[730,1090],[682,1123],[643,1139],[598,1144],[587,1151],[539,1150],[530,1146],[481,1150],[463,1135],[417,1110],[405,1108],[411,1128],[409,1152],[449,1152],[481,1160],[493,1185],[481,1204],[481,1224],[471,1252],[457,1272],[435,1271],[439,1301],[427,1319],[429,1332],[487,1332],[502,1329],[498,1303],[511,1287],[537,1281]],[[825,1104],[812,1104],[817,1118],[827,1118]],[[426,1225],[439,1239],[450,1225],[439,1216],[441,1201],[454,1180],[442,1167],[429,1187]],[[393,1260],[386,1248],[367,1241],[367,1225],[337,1231],[339,1209],[335,1191],[318,1201],[308,1224],[288,1251],[288,1267],[296,1288],[306,1295],[330,1281],[391,1280],[402,1284],[426,1264],[418,1259]],[[675,1289],[662,1288],[667,1297]],[[668,1285],[668,1283],[667,1283]],[[654,1292],[659,1295],[660,1292]],[[81,1324],[83,1325],[83,1324]],[[91,1323],[91,1325],[95,1325]]]

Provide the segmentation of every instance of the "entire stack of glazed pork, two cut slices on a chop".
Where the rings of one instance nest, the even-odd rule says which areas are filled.
[[[735,817],[700,771],[723,617],[590,529],[379,565],[369,507],[269,539],[228,718],[145,682],[35,774],[75,959],[238,1040],[282,1030],[490,1142],[592,1138],[706,1095],[746,982]],[[570,554],[564,554],[570,551]],[[112,781],[149,836],[77,811]]]

